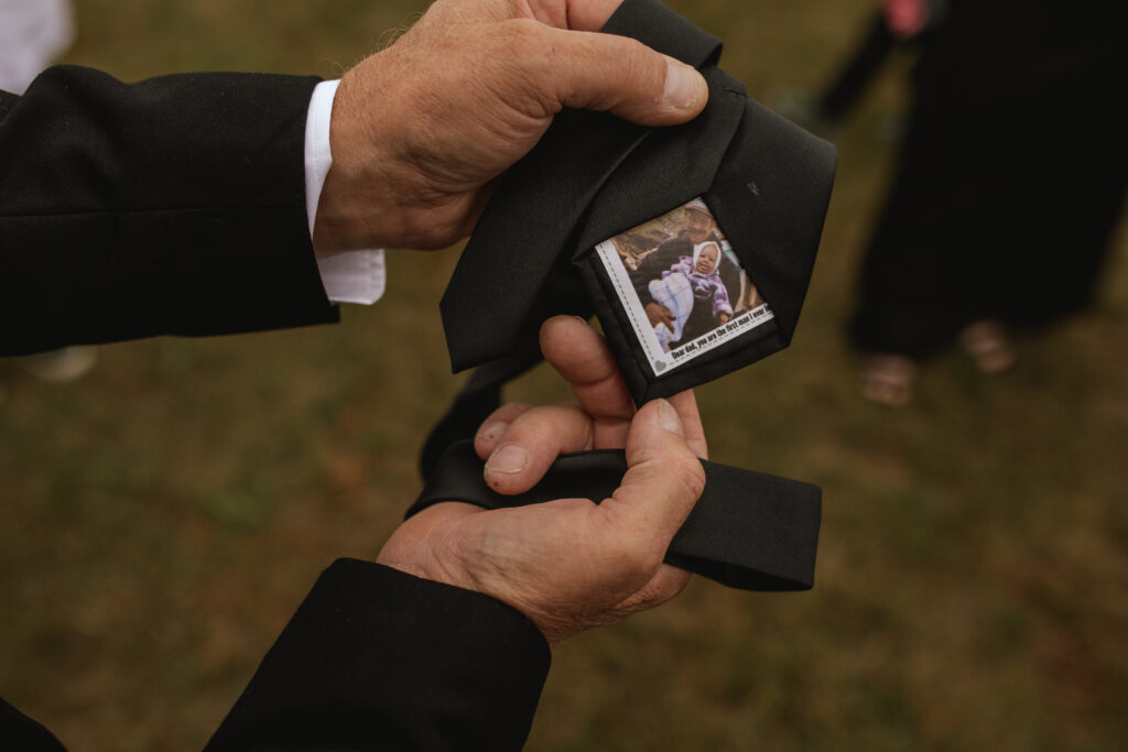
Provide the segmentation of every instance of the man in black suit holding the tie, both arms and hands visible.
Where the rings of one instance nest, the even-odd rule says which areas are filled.
[[[562,107],[654,126],[702,110],[697,71],[591,33],[617,6],[438,2],[340,82],[56,68],[23,97],[0,91],[0,352],[316,324],[336,319],[332,301],[372,302],[379,248],[466,236]],[[693,393],[636,413],[578,319],[548,321],[541,346],[579,405],[500,408],[476,443],[487,478],[506,448],[531,458],[493,479],[510,494],[557,453],[625,449],[614,496],[437,504],[379,563],[337,561],[209,750],[519,749],[549,644],[682,589],[662,557],[704,487]],[[0,747],[63,749],[2,701]]]

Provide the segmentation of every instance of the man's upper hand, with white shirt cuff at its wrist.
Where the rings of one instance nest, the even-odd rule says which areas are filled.
[[[439,0],[396,44],[345,73],[318,256],[441,248],[469,233],[495,178],[563,107],[644,125],[696,116],[693,68],[594,34],[622,0]],[[550,179],[550,176],[549,176]]]

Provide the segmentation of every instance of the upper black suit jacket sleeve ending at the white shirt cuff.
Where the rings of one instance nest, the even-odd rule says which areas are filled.
[[[59,67],[0,95],[0,355],[336,320],[306,219],[317,82]]]

